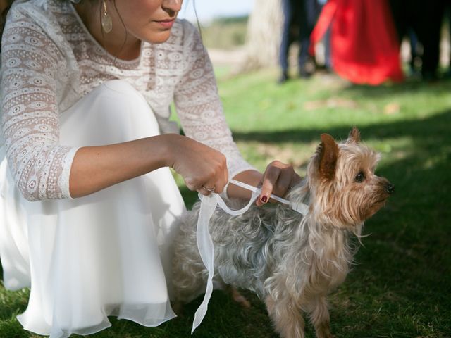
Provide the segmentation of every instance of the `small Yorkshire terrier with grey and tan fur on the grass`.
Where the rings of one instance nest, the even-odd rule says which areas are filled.
[[[394,192],[393,184],[374,174],[379,159],[355,127],[342,143],[322,134],[307,176],[286,195],[307,204],[307,215],[284,204],[254,205],[239,216],[216,208],[209,224],[214,280],[257,293],[280,337],[304,337],[302,312],[316,337],[333,337],[326,297],[350,270],[357,247],[352,237],[360,242],[364,221]],[[208,273],[196,245],[198,214],[199,203],[175,239],[173,287],[182,303],[206,287]]]

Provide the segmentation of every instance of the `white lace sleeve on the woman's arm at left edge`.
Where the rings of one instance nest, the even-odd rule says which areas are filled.
[[[56,98],[64,58],[19,11],[9,15],[1,51],[1,132],[16,184],[29,201],[70,198],[70,165],[77,149],[58,144]]]

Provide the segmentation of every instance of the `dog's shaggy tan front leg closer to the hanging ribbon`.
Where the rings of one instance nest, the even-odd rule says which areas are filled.
[[[304,318],[302,318],[300,308],[294,299],[288,294],[284,294],[277,300],[267,296],[265,303],[280,337],[304,338]]]

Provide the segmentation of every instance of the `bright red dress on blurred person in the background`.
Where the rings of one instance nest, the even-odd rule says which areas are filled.
[[[403,80],[388,1],[329,0],[311,33],[311,54],[330,25],[332,65],[338,75],[357,84]]]

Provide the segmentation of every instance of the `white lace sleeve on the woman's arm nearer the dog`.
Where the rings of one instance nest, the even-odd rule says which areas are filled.
[[[175,108],[183,131],[227,158],[229,178],[244,170],[254,169],[238,151],[223,114],[216,79],[209,56],[196,28],[183,22],[187,65],[182,79],[175,87]]]

